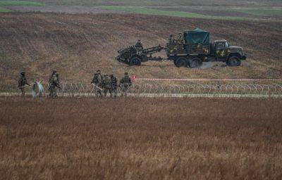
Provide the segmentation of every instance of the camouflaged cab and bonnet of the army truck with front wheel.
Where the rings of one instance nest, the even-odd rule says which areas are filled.
[[[245,52],[242,47],[230,46],[228,41],[216,40],[210,44],[211,56],[216,61],[226,62],[230,66],[239,66],[241,60],[246,59]]]

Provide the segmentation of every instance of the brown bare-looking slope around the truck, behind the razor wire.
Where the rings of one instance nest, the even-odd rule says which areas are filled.
[[[126,70],[139,77],[190,78],[277,78],[282,75],[281,22],[247,22],[170,18],[121,14],[0,14],[0,88],[14,86],[18,72],[29,79],[47,80],[51,70],[63,82],[90,82],[94,70],[114,72],[121,77]],[[145,63],[128,67],[114,61],[116,51],[136,39],[143,44],[164,45],[168,34],[200,27],[212,39],[228,39],[243,46],[248,60],[239,68],[220,65],[204,70],[176,68],[170,62]],[[164,56],[164,54],[162,54]],[[5,87],[4,87],[5,86]]]

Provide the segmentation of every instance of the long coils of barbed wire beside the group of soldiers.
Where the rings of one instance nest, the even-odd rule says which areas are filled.
[[[44,84],[48,89],[49,84]],[[92,84],[62,83],[59,94],[95,94]],[[118,94],[121,89],[118,88]],[[131,94],[282,94],[282,84],[152,84],[135,83],[130,86]]]

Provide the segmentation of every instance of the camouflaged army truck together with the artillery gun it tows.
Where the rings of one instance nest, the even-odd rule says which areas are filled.
[[[209,42],[209,32],[199,28],[183,32],[183,41],[168,39],[166,47],[154,46],[137,52],[135,46],[118,51],[116,60],[129,65],[141,65],[148,60],[171,60],[176,67],[198,68],[204,61],[221,61],[230,66],[239,66],[247,58],[242,47],[230,46],[226,40]],[[166,58],[152,57],[161,50]]]

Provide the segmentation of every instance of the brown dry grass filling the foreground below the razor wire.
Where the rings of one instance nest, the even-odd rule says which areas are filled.
[[[0,98],[0,179],[281,179],[281,99]]]

